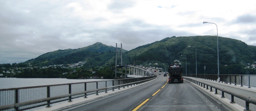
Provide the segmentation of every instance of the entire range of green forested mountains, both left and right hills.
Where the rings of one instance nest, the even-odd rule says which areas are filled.
[[[218,38],[220,74],[256,74],[256,69],[247,67],[256,64],[256,46],[247,45],[236,39]],[[120,52],[120,48],[117,50]],[[27,67],[27,64],[30,64],[30,66],[68,65],[81,61],[84,62],[83,66],[76,70],[79,70],[78,72],[83,74],[87,70],[100,70],[106,67],[113,68],[116,59],[115,51],[116,47],[97,42],[79,49],[48,52],[35,59],[14,65],[15,67]],[[117,65],[121,65],[120,53],[117,56]],[[149,66],[149,63],[152,63],[151,66],[153,66],[153,64],[158,63],[156,66],[167,68],[174,60],[181,63],[183,71],[185,71],[187,61],[188,74],[196,73],[196,63],[197,74],[204,74],[204,66],[206,67],[206,74],[217,74],[217,36],[173,36],[151,44],[139,46],[131,51],[123,50],[123,61],[128,61],[124,62],[124,64]],[[0,67],[12,66],[10,64],[0,65]],[[46,70],[45,72],[47,71],[52,72],[51,70]],[[65,72],[62,71],[62,73]],[[20,75],[20,77],[22,76]],[[58,76],[56,75],[56,77]]]

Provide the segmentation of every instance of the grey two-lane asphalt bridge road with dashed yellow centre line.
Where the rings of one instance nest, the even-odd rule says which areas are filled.
[[[83,104],[61,109],[62,111],[132,111],[145,102],[137,111],[228,111],[208,95],[205,95],[190,82],[168,84],[164,75],[157,75],[157,79],[140,87]],[[164,87],[163,87],[164,86]],[[158,91],[156,93],[156,91]],[[152,96],[152,94],[155,94]]]

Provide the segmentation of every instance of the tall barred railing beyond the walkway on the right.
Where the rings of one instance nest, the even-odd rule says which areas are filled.
[[[182,74],[182,76],[186,76],[186,74]],[[196,77],[196,74],[187,74],[188,77]],[[216,74],[197,74],[197,78],[208,79],[208,80],[217,80],[218,75]],[[233,74],[220,74],[220,82],[224,83],[233,83],[239,84],[241,86],[245,85],[250,87],[256,87],[256,75],[233,75]]]

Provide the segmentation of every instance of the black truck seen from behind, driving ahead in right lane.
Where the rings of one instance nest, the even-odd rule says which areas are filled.
[[[183,83],[182,67],[180,65],[169,65],[169,83]]]

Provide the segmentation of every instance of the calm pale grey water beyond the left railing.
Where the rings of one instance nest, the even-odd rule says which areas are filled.
[[[0,78],[0,89],[100,81],[103,79],[72,80],[64,78]]]

